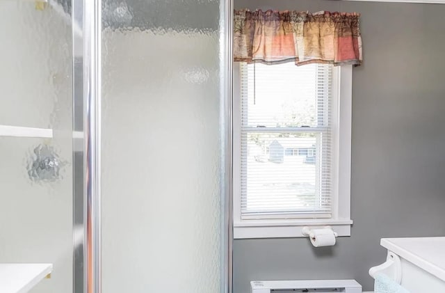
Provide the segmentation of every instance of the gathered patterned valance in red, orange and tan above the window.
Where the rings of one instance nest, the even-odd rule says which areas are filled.
[[[234,61],[360,65],[358,13],[235,10]]]

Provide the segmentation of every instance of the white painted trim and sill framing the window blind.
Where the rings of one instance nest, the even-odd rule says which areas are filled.
[[[240,104],[239,63],[234,63],[234,137],[241,135],[241,114],[236,105]],[[332,218],[330,219],[241,219],[241,147],[234,145],[234,239],[305,237],[301,230],[304,226],[314,228],[330,225],[339,236],[350,236],[350,163],[351,163],[351,120],[352,120],[352,65],[334,68],[332,74],[332,96],[341,97],[332,101],[332,111],[338,111],[339,129],[334,141],[334,161],[339,170],[335,172],[332,194]],[[336,101],[337,100],[337,101]],[[341,100],[341,102],[340,102]],[[234,139],[234,143],[238,141]],[[340,159],[341,158],[341,159]],[[338,193],[338,195],[337,195]]]

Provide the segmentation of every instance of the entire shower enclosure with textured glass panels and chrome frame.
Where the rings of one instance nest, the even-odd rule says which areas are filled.
[[[232,292],[229,0],[0,2],[0,263]]]

